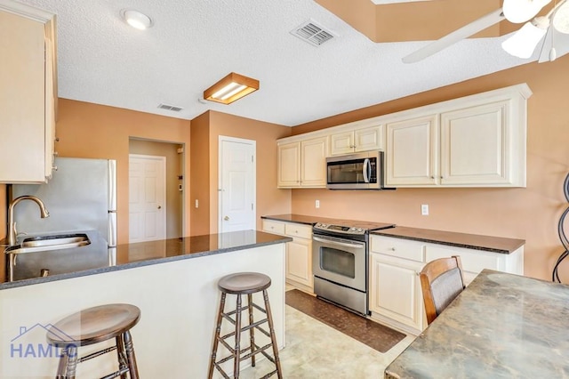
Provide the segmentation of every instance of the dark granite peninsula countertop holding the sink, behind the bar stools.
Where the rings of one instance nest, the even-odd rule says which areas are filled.
[[[24,272],[29,271],[30,274],[28,274],[28,277],[25,277],[24,273],[20,277],[20,280],[12,282],[8,281],[8,278],[0,280],[0,290],[66,278],[82,277],[102,272],[132,269],[150,264],[198,258],[211,254],[224,254],[289,241],[292,241],[292,238],[276,236],[257,230],[243,230],[230,233],[124,244],[118,245],[115,248],[108,248],[105,245],[97,250],[89,250],[88,254],[66,254],[66,258],[64,259],[67,262],[63,264],[60,261],[53,261],[56,264],[55,266],[51,266],[47,263],[51,260],[48,260],[47,258],[49,257],[43,256],[42,254],[60,254],[64,252],[64,250],[20,254],[20,257],[17,258],[19,260],[17,262],[18,269]],[[84,247],[79,247],[79,249],[83,248]],[[28,255],[28,260],[25,259],[26,257],[24,257],[24,255]],[[43,260],[41,268],[50,270],[49,276],[37,278],[40,266],[37,266],[36,262],[30,260],[38,259]],[[35,267],[35,269],[28,270],[29,267]]]

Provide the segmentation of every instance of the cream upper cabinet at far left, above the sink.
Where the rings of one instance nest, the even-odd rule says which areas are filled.
[[[44,182],[55,134],[55,16],[0,0],[0,182]]]

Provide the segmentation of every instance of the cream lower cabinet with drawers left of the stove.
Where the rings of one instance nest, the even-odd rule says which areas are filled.
[[[296,222],[263,220],[263,231],[293,238],[286,243],[286,283],[313,293],[312,227]]]

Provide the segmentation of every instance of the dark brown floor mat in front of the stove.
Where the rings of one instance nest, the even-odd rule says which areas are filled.
[[[384,327],[297,289],[286,292],[286,304],[380,352],[389,351],[405,338],[405,335],[397,330]]]

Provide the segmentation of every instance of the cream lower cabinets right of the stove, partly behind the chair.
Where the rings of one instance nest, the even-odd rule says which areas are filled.
[[[484,269],[524,274],[524,246],[500,254],[378,235],[370,240],[371,318],[414,335],[427,327],[419,277],[427,262],[461,256],[467,286]]]

